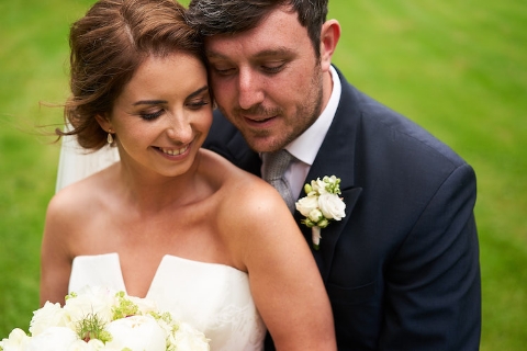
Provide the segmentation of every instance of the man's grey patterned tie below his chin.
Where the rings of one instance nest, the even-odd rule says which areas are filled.
[[[294,156],[282,149],[277,152],[265,152],[264,159],[264,173],[261,174],[264,180],[274,186],[276,190],[282,195],[283,201],[288,204],[289,211],[294,211],[294,199],[291,192],[291,186],[288,180],[283,177],[283,172],[294,159]]]

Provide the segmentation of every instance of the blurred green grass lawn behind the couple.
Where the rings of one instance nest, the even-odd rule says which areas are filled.
[[[93,1],[1,1],[0,338],[38,307],[40,241],[58,146],[40,106],[67,97],[68,25]],[[188,1],[186,1],[188,2]],[[527,2],[330,0],[335,64],[475,169],[482,350],[527,343]]]

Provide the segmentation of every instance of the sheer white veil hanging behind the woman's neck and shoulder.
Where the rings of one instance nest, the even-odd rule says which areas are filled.
[[[66,135],[60,146],[56,191],[75,183],[119,160],[116,147],[104,145],[94,152],[88,151],[77,143],[76,136]]]

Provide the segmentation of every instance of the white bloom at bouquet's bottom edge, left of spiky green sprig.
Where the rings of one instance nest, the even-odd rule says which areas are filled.
[[[68,351],[79,337],[66,327],[49,327],[32,337],[24,351]]]

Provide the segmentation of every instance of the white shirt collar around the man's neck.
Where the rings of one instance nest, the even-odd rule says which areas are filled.
[[[333,91],[322,114],[302,135],[290,143],[285,149],[296,159],[310,166],[313,165],[316,154],[326,137],[340,101],[341,84],[337,71],[329,67],[333,80]]]

